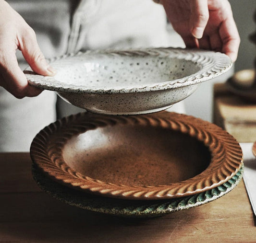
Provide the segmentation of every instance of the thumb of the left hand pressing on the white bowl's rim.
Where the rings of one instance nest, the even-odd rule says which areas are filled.
[[[38,74],[44,76],[54,76],[56,71],[49,66],[43,53],[41,52],[34,30],[25,28],[18,36],[18,46],[29,66]]]

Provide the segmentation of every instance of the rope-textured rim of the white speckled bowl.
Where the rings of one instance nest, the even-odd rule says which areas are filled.
[[[224,72],[228,71],[232,67],[231,59],[220,52],[214,52],[202,49],[188,49],[188,48],[174,48],[174,47],[157,47],[157,48],[137,48],[127,50],[87,50],[85,52],[78,52],[76,54],[69,53],[60,57],[54,57],[48,59],[50,65],[54,66],[55,62],[63,60],[68,61],[70,58],[79,58],[81,56],[89,56],[94,54],[102,55],[124,55],[131,57],[137,55],[140,57],[144,56],[157,56],[157,57],[170,57],[184,59],[186,61],[192,61],[201,66],[201,69],[197,72],[185,76],[180,79],[156,82],[149,85],[136,85],[135,87],[129,88],[98,88],[98,87],[87,87],[85,85],[73,86],[70,84],[64,84],[57,81],[54,76],[42,76],[33,72],[32,69],[26,68],[24,70],[25,76],[30,85],[38,88],[47,89],[56,92],[64,93],[85,93],[85,94],[114,94],[114,93],[139,93],[139,92],[152,92],[159,90],[169,90],[179,88],[183,86],[193,85],[201,83],[203,81],[215,78]],[[61,65],[60,65],[61,66]],[[58,68],[55,67],[55,69]]]

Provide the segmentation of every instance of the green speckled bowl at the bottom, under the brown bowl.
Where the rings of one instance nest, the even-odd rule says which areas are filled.
[[[69,205],[120,217],[149,218],[194,208],[226,195],[241,181],[243,170],[241,167],[229,181],[205,192],[181,198],[146,201],[100,197],[73,190],[46,177],[35,164],[32,167],[32,174],[43,191]]]

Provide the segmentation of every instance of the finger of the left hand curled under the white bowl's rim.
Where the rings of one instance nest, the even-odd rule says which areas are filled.
[[[42,90],[28,84],[19,68],[15,52],[9,52],[0,60],[0,85],[16,98],[37,96]]]

